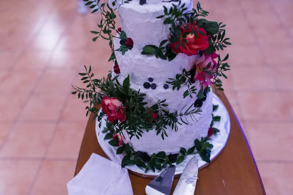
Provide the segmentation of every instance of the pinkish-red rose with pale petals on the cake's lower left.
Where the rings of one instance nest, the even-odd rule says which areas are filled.
[[[114,120],[120,120],[120,122],[123,122],[126,119],[124,109],[125,107],[123,107],[122,102],[117,98],[103,97],[102,110],[106,113],[107,120],[111,123],[113,123]]]

